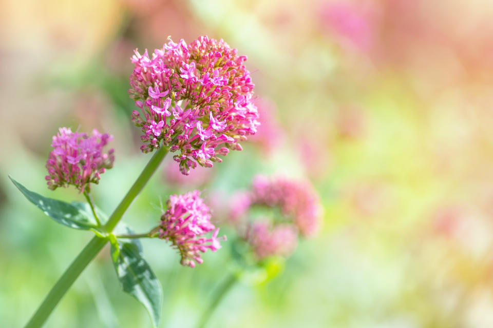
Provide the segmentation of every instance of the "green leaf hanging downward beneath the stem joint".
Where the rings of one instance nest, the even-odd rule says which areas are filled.
[[[142,256],[137,239],[112,239],[111,258],[123,291],[141,302],[155,327],[161,320],[161,283]]]

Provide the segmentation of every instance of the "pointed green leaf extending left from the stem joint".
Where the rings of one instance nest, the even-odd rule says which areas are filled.
[[[56,222],[74,229],[89,230],[96,228],[97,223],[92,214],[88,215],[85,210],[81,210],[81,208],[75,207],[73,204],[41,196],[28,190],[12,177],[9,176],[9,178],[30,202]]]

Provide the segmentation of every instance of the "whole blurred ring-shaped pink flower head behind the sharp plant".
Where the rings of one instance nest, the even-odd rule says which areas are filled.
[[[256,177],[252,190],[237,194],[232,204],[231,221],[259,259],[290,255],[298,235],[308,237],[316,232],[321,214],[317,193],[308,182],[284,178]],[[249,212],[258,206],[277,208],[281,217],[250,220]]]

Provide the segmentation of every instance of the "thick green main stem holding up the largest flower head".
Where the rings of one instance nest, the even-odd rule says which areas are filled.
[[[113,211],[113,214],[111,214],[108,222],[103,227],[107,232],[111,232],[115,228],[132,201],[134,201],[150,177],[154,174],[154,172],[156,172],[159,164],[163,160],[164,156],[166,156],[168,149],[169,148],[167,147],[161,147],[161,149],[159,149],[149,160],[134,185],[132,185],[125,197],[123,197],[122,201],[118,204],[118,207],[115,211]],[[29,320],[26,324],[25,328],[38,328],[43,325],[55,308],[56,304],[58,304],[63,295],[65,295],[75,279],[79,277],[82,271],[84,271],[87,267],[87,264],[89,264],[90,261],[99,253],[107,241],[107,238],[100,238],[98,236],[91,239],[77,258],[73,260],[70,267],[68,267],[62,277],[55,283],[43,303],[41,303],[40,307],[31,317],[31,320]]]

